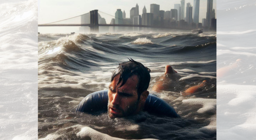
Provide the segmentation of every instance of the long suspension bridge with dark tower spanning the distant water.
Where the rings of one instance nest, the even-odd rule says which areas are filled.
[[[103,14],[107,14],[107,13],[104,13],[104,12],[101,12],[99,11],[100,13],[103,13]],[[67,20],[70,20],[70,19],[73,19],[73,18],[76,18],[76,17],[81,17],[81,19],[83,18],[83,16],[85,16],[86,14],[90,14],[90,23],[87,23],[87,24],[83,24],[82,23],[82,20],[81,20],[81,23],[80,24],[69,24],[69,23],[65,23],[65,24],[53,24],[53,23],[57,23],[57,22],[61,22],[61,21],[67,21]],[[86,13],[86,14],[82,14],[82,15],[78,15],[78,16],[75,16],[75,17],[71,17],[71,18],[68,18],[68,19],[64,19],[64,20],[61,20],[61,21],[54,21],[54,22],[50,22],[50,23],[46,23],[46,24],[38,24],[39,27],[53,27],[53,26],[79,26],[79,27],[83,27],[83,26],[87,26],[87,27],[90,27],[90,31],[91,32],[99,32],[99,27],[102,26],[102,27],[143,27],[143,28],[166,28],[166,29],[182,29],[182,28],[176,28],[176,27],[165,27],[165,26],[152,26],[152,25],[135,25],[135,24],[132,24],[132,22],[130,24],[99,24],[99,21],[98,21],[98,10],[92,10],[90,11],[89,13]],[[110,14],[107,14],[107,15],[110,15]],[[110,15],[110,16],[113,16],[113,15]],[[113,16],[115,17],[115,16]],[[118,18],[118,17],[115,17],[115,18]],[[119,19],[119,18],[118,18]]]

